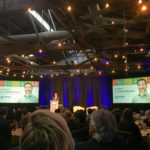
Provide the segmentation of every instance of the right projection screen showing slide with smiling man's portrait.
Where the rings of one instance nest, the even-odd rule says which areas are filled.
[[[150,103],[150,77],[114,79],[113,103]]]

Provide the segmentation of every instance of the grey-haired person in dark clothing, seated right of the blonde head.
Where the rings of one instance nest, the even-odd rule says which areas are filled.
[[[76,150],[116,150],[113,143],[117,132],[114,116],[108,110],[98,110],[92,113],[89,132],[92,138],[76,144]]]

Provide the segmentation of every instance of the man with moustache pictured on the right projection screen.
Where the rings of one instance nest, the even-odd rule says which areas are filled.
[[[150,103],[150,94],[147,93],[147,81],[139,79],[137,81],[139,94],[132,98],[132,103]]]

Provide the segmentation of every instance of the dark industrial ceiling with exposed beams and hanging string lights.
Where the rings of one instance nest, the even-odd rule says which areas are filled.
[[[0,0],[0,75],[150,70],[148,0]]]

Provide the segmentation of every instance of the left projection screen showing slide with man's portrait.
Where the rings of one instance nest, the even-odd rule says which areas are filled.
[[[0,103],[38,103],[39,81],[0,80]]]

